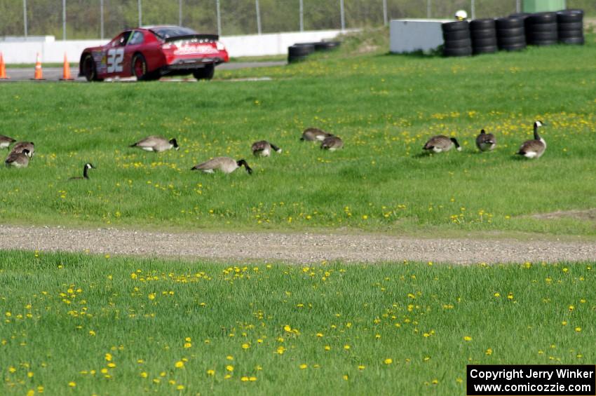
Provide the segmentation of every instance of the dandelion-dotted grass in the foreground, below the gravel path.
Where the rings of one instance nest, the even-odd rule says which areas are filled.
[[[1,252],[3,394],[465,392],[589,364],[594,263],[212,264]]]

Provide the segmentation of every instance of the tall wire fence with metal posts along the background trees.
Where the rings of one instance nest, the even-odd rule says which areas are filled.
[[[0,36],[108,39],[139,25],[226,36],[386,25],[396,18],[472,18],[521,11],[521,0],[0,0]],[[595,0],[567,0],[596,16]]]

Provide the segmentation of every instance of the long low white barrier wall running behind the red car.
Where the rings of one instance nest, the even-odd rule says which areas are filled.
[[[287,47],[294,43],[305,43],[334,39],[340,30],[318,30],[313,32],[290,32],[254,34],[250,36],[222,36],[220,41],[226,46],[231,57],[284,55]],[[67,53],[69,62],[78,62],[83,49],[101,46],[106,40],[67,40],[55,41],[54,36],[39,36],[27,41],[10,39],[0,41],[0,52],[6,63],[34,63],[39,53],[41,62],[62,62]]]

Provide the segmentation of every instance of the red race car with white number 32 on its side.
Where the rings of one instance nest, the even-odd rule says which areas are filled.
[[[180,26],[125,30],[105,46],[85,48],[79,76],[87,81],[131,76],[147,81],[184,74],[210,79],[215,65],[229,60],[218,39],[216,34],[198,34]]]

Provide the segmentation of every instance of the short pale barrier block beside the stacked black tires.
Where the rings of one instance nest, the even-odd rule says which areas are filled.
[[[453,22],[453,20],[392,20],[389,25],[389,50],[392,53],[434,50],[443,43],[441,25],[445,22]]]

